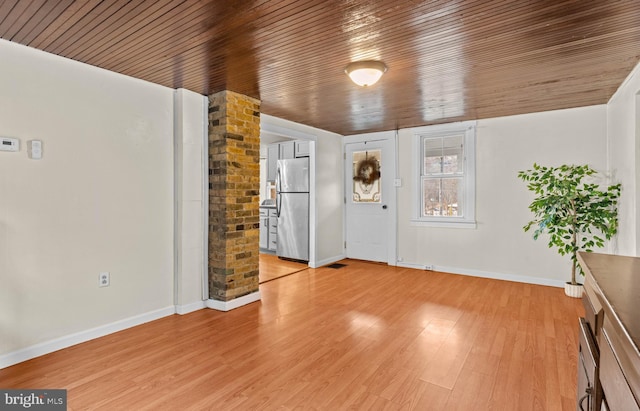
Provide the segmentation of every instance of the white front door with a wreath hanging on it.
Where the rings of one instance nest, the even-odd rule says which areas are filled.
[[[395,265],[394,147],[391,139],[345,144],[348,258]]]

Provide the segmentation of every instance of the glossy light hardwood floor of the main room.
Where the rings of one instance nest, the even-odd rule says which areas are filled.
[[[345,261],[0,370],[70,410],[573,410],[580,300]]]

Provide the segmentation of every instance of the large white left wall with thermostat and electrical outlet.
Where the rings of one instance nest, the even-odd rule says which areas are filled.
[[[16,350],[173,312],[174,92],[4,40],[0,56],[0,135],[22,143],[0,152],[1,367]]]

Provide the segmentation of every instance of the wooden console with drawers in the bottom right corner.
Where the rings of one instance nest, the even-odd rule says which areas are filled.
[[[579,253],[578,410],[640,410],[640,258]],[[595,346],[593,346],[595,345]]]

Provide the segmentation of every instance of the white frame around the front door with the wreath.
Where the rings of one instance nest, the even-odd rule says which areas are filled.
[[[342,153],[343,153],[343,158],[346,156],[346,152],[347,152],[347,144],[351,144],[351,143],[364,143],[364,142],[371,142],[371,141],[381,141],[381,140],[390,140],[392,142],[392,144],[390,144],[391,146],[391,162],[392,164],[390,169],[394,170],[393,171],[393,175],[391,176],[392,181],[395,181],[397,178],[397,145],[396,145],[396,132],[395,131],[381,131],[381,132],[377,132],[377,133],[367,133],[367,134],[358,134],[358,135],[353,135],[353,136],[345,136],[343,139],[343,143],[342,143]],[[347,159],[344,158],[344,164],[345,164],[345,175],[343,176],[343,180],[346,179],[346,167],[347,167]],[[387,160],[385,160],[385,165],[387,164]],[[391,208],[392,212],[389,213],[389,220],[388,220],[388,243],[387,243],[387,264],[388,265],[396,265],[397,264],[397,237],[398,237],[398,193],[397,193],[397,189],[395,189],[395,184],[392,184],[394,186],[394,190],[391,191],[389,197],[387,198],[389,201],[385,201],[389,207]],[[347,221],[347,207],[346,207],[346,203],[347,203],[347,198],[348,198],[348,193],[347,193],[347,185],[345,184],[344,187],[344,207],[343,207],[343,221],[344,221],[344,232],[343,232],[343,238],[345,239],[345,245],[346,245],[346,239],[347,239],[347,225],[349,224],[349,222]],[[343,254],[346,255],[347,249],[346,247],[343,248]]]

